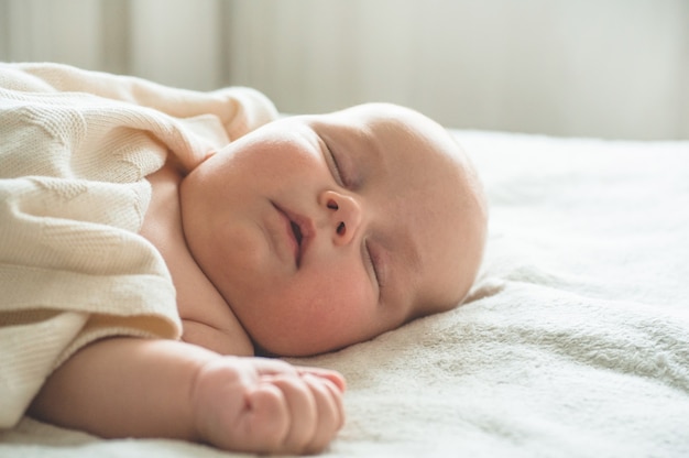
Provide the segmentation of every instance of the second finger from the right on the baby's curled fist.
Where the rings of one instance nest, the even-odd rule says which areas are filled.
[[[281,451],[304,452],[317,428],[318,407],[309,385],[298,377],[271,377],[285,399],[289,412],[289,428]]]

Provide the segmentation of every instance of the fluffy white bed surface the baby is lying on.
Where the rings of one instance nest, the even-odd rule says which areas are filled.
[[[453,133],[491,205],[480,276],[449,313],[292,360],[348,379],[324,456],[689,456],[689,141]],[[0,456],[234,455],[24,418]]]

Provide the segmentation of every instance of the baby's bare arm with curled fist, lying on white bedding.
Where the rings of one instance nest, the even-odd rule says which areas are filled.
[[[113,338],[61,366],[30,414],[102,437],[168,437],[237,451],[315,452],[343,424],[342,378],[222,357],[174,340]]]

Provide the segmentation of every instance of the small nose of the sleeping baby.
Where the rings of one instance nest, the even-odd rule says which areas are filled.
[[[351,242],[361,226],[361,206],[359,201],[344,194],[333,190],[324,192],[320,205],[328,212],[328,227],[335,244]]]

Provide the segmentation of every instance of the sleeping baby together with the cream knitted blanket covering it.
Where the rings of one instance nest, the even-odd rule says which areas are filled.
[[[26,410],[102,437],[319,451],[342,375],[256,355],[371,339],[474,280],[480,183],[416,111],[264,123],[255,91],[0,69],[2,427]]]

